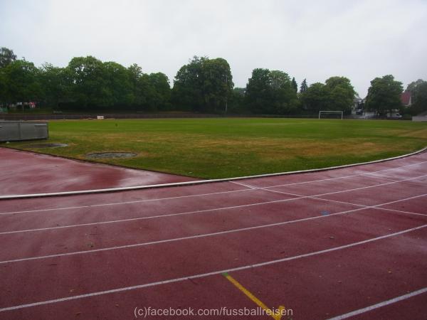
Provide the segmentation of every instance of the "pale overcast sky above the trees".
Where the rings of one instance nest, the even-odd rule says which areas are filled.
[[[37,66],[94,55],[173,83],[193,55],[225,58],[244,87],[254,68],[300,82],[392,74],[427,80],[427,0],[0,0],[0,46]]]

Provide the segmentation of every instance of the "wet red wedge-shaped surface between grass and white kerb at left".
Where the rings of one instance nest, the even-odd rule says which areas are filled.
[[[145,186],[195,178],[0,147],[0,196]]]

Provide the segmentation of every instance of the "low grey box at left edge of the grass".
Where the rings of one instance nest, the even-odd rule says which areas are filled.
[[[0,120],[0,142],[48,139],[48,122]]]

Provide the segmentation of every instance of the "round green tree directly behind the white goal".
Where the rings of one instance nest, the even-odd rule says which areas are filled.
[[[326,110],[339,110],[350,114],[356,94],[350,80],[345,77],[331,77],[325,83],[325,90],[328,91],[330,99]]]

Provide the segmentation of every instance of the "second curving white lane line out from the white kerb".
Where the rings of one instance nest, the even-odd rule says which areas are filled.
[[[425,174],[423,176],[427,176],[427,174]],[[417,176],[417,177],[407,178],[407,179],[403,179],[403,180],[399,180],[399,181],[391,181],[391,182],[387,182],[387,183],[380,183],[380,184],[376,184],[374,186],[364,186],[364,187],[352,188],[352,189],[343,190],[343,191],[334,191],[334,192],[330,192],[330,193],[320,193],[320,194],[317,194],[317,195],[314,195],[314,196],[300,196],[300,198],[282,199],[282,200],[266,201],[266,202],[260,202],[260,203],[250,203],[248,205],[230,206],[230,207],[225,207],[225,208],[211,208],[211,209],[206,209],[206,210],[194,210],[194,211],[184,212],[184,213],[170,213],[170,214],[165,214],[165,215],[152,215],[152,216],[148,216],[148,217],[127,218],[127,219],[118,219],[118,220],[107,220],[107,221],[100,221],[100,222],[94,222],[94,223],[80,223],[80,224],[75,224],[75,225],[61,225],[61,226],[47,227],[47,228],[34,228],[34,229],[23,229],[23,230],[4,231],[4,232],[1,232],[0,235],[8,235],[8,234],[11,234],[11,233],[28,233],[28,232],[55,230],[55,229],[63,229],[63,228],[77,228],[77,227],[88,226],[88,225],[103,225],[103,224],[107,224],[107,223],[122,223],[122,222],[135,221],[135,220],[145,220],[145,219],[152,219],[152,218],[170,217],[170,216],[174,216],[174,215],[188,215],[188,214],[194,214],[194,213],[211,212],[211,211],[215,211],[215,210],[225,210],[225,209],[233,209],[233,208],[244,208],[244,207],[247,207],[247,206],[258,206],[258,205],[263,205],[263,204],[268,204],[268,203],[294,201],[296,199],[302,199],[302,198],[313,198],[313,197],[327,196],[327,195],[335,194],[335,193],[343,193],[343,192],[349,192],[349,191],[362,190],[362,189],[366,189],[366,188],[374,188],[374,187],[377,187],[377,186],[387,186],[387,185],[390,185],[390,184],[393,184],[393,183],[399,183],[399,182],[414,180],[414,179],[417,179],[417,178],[421,178],[423,176]],[[258,187],[255,187],[255,188],[256,188],[256,190],[271,191],[271,192],[281,193],[281,194],[285,194],[285,195],[297,196],[294,193],[286,193],[286,192],[282,192],[282,191],[275,191],[275,190],[270,190],[268,188],[258,188]],[[253,190],[255,190],[255,189],[253,189]]]

